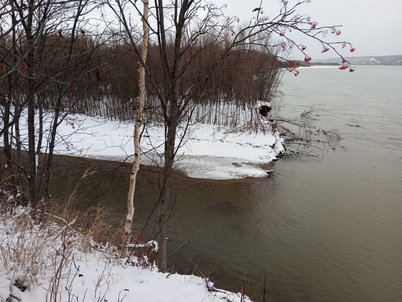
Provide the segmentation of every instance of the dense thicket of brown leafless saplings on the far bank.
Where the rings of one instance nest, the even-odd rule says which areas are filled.
[[[41,49],[34,51],[34,73],[39,74],[35,89],[35,101],[41,112],[58,110],[87,115],[99,115],[110,119],[132,121],[139,95],[138,68],[130,50],[130,45],[114,39],[112,35],[102,38],[77,37],[73,44],[72,56],[66,60],[70,44],[68,36],[53,36],[46,39]],[[7,41],[6,41],[7,42]],[[198,48],[202,48],[199,43]],[[7,48],[4,48],[4,51]],[[199,82],[205,73],[225,51],[225,46],[204,49],[192,58],[197,47],[184,51],[184,60],[190,60],[182,77],[182,91],[192,83]],[[21,56],[24,48],[20,48]],[[272,51],[272,50],[271,50]],[[187,54],[188,52],[188,54]],[[4,53],[3,57],[12,54]],[[148,63],[153,77],[158,80],[161,73],[160,56],[157,45],[149,47]],[[15,106],[27,97],[27,78],[20,72],[10,76],[9,81],[0,85],[2,95]],[[191,122],[244,127],[255,130],[261,127],[256,105],[271,100],[280,81],[281,65],[266,49],[253,52],[234,48],[232,56],[226,58],[207,82],[206,93],[193,100],[195,107],[188,112]],[[59,75],[63,70],[63,79]],[[163,121],[159,110],[159,99],[147,85],[145,120]],[[190,116],[191,115],[191,116]]]

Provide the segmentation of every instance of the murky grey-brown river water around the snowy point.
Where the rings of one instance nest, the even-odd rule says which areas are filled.
[[[263,179],[175,177],[167,230],[175,271],[196,265],[197,273],[235,291],[246,272],[255,300],[264,271],[272,301],[402,300],[402,67],[355,69],[286,73],[277,101],[287,117],[316,108],[308,122],[340,131],[342,140],[331,142],[335,150],[318,145],[318,158],[285,156]],[[97,171],[82,182],[82,198],[110,206],[120,223],[127,166],[71,157],[58,165],[73,180],[87,168]],[[68,175],[58,173],[55,183]],[[155,174],[144,170],[139,178],[137,229],[157,191]]]

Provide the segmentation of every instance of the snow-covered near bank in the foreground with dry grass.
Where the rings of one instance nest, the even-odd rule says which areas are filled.
[[[57,218],[56,216],[52,216]],[[119,259],[88,235],[51,217],[35,224],[29,211],[1,214],[0,301],[234,301],[240,293],[216,289],[194,275],[160,273],[146,259]],[[250,301],[247,297],[244,302]]]

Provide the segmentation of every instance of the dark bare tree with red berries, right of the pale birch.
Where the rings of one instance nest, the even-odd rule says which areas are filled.
[[[132,22],[126,13],[127,10],[135,10],[145,19],[136,2],[126,0],[108,2],[125,29],[133,53],[145,68],[149,84],[158,97],[162,109],[165,144],[158,200],[158,266],[161,271],[166,271],[166,221],[173,162],[184,138],[177,137],[177,128],[184,122],[184,128],[187,129],[186,123],[188,125],[188,117],[191,116],[194,106],[208,99],[213,90],[211,80],[219,66],[241,52],[248,53],[247,59],[257,64],[255,52],[265,50],[276,57],[284,68],[297,75],[298,71],[294,65],[289,65],[284,55],[274,51],[278,47],[284,52],[292,48],[305,54],[305,61],[311,60],[306,53],[306,47],[292,39],[292,35],[289,34],[291,31],[319,41],[323,45],[323,52],[331,49],[342,59],[336,48],[338,45],[343,47],[349,45],[351,51],[354,50],[346,41],[324,40],[323,35],[328,31],[338,35],[340,33],[338,26],[319,27],[310,17],[297,14],[297,8],[308,2],[298,2],[288,7],[288,2],[282,1],[278,15],[269,19],[263,14],[263,1],[261,1],[260,7],[253,10],[255,18],[241,25],[238,18],[225,16],[224,7],[216,7],[208,1],[155,0],[154,6],[150,8],[152,20],[149,18],[147,20],[150,39],[156,41],[159,49],[161,66],[158,71],[152,70],[142,59],[139,43],[133,34]],[[201,68],[191,64],[199,58],[202,59],[207,50],[216,46],[220,47],[219,55],[209,66]],[[347,63],[346,60],[344,62]],[[185,132],[184,130],[184,134]]]

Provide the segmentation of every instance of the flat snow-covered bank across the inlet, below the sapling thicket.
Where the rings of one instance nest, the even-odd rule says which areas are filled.
[[[47,113],[44,119],[44,128],[49,129],[52,113]],[[26,124],[24,115],[21,121],[23,137],[27,137]],[[56,152],[124,161],[134,153],[133,131],[133,123],[70,114],[59,126]],[[179,129],[176,144],[180,142],[182,133],[183,129]],[[45,133],[44,145],[48,136],[49,132]],[[250,134],[230,132],[226,127],[214,125],[191,125],[177,153],[180,160],[176,163],[176,168],[196,178],[262,177],[266,175],[262,165],[271,162],[283,152],[282,141],[277,132]],[[163,152],[163,142],[162,127],[147,127],[141,140],[145,153],[141,164],[153,165],[160,162],[158,155]]]

